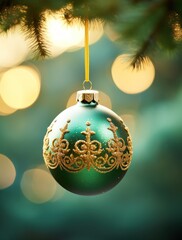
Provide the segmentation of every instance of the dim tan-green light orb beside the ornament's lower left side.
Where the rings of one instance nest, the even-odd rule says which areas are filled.
[[[24,172],[20,186],[23,195],[37,204],[50,201],[57,188],[50,173],[38,168]]]

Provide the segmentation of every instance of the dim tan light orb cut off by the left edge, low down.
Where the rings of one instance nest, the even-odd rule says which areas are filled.
[[[16,170],[12,161],[0,154],[0,189],[10,187],[16,178]]]

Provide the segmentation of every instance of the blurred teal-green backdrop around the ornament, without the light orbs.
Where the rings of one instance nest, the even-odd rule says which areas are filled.
[[[65,192],[45,204],[22,194],[24,171],[43,164],[42,141],[50,122],[82,86],[83,50],[35,61],[42,90],[28,109],[0,117],[0,152],[12,159],[17,177],[0,190],[2,240],[178,239],[182,237],[182,55],[153,59],[153,85],[136,95],[112,82],[111,65],[124,49],[106,37],[91,48],[91,80],[107,93],[117,114],[133,114],[132,165],[111,191],[93,197]],[[126,122],[127,124],[127,122]],[[127,124],[128,125],[128,124]]]

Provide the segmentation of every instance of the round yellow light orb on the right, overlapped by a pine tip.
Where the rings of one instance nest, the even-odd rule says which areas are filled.
[[[155,68],[148,58],[139,69],[130,66],[128,54],[118,56],[112,65],[112,78],[116,86],[125,93],[136,94],[149,88],[155,77]]]

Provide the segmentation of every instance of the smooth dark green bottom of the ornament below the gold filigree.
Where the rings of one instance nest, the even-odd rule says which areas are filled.
[[[61,171],[59,167],[50,170],[54,179],[66,190],[79,195],[97,195],[115,187],[124,177],[126,171],[113,170],[109,173],[98,173],[94,169],[84,169],[80,173]]]

